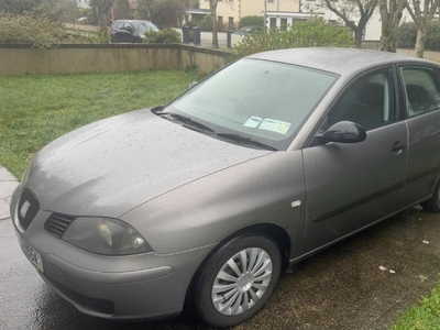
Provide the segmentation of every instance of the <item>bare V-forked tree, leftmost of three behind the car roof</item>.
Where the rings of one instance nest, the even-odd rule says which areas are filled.
[[[340,16],[353,31],[356,46],[361,48],[362,34],[377,3],[378,0],[323,0],[322,4]]]

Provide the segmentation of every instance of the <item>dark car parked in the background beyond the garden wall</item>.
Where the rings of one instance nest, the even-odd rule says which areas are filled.
[[[152,22],[145,20],[118,20],[110,25],[112,43],[142,43],[145,32],[158,31]]]

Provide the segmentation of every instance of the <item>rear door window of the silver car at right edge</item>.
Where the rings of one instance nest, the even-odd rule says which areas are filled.
[[[408,118],[440,108],[440,86],[437,74],[426,67],[400,67],[406,94]]]

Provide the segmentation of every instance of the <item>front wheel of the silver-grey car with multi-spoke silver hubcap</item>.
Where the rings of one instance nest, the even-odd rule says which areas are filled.
[[[244,235],[229,241],[208,260],[196,282],[199,317],[216,328],[252,318],[274,292],[280,268],[279,248],[271,239]]]

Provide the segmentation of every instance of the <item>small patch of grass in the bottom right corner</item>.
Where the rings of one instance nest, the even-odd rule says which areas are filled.
[[[439,330],[440,329],[440,282],[428,297],[408,309],[392,327],[392,330]]]

